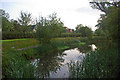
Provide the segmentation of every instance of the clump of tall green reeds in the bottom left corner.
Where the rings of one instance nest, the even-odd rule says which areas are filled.
[[[35,78],[34,66],[32,64],[28,65],[28,61],[25,60],[24,57],[14,55],[7,61],[6,58],[9,56],[10,55],[5,55],[3,57],[3,60],[5,61],[2,64],[3,78]]]

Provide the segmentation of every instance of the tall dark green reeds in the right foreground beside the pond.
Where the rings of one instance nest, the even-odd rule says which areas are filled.
[[[82,62],[69,63],[71,78],[116,78],[118,50],[110,48],[87,53]]]

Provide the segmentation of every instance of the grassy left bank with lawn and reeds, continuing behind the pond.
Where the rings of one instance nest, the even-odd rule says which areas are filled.
[[[34,48],[34,49],[17,51],[16,49],[36,46],[39,44],[39,41],[33,38],[2,40],[3,78],[4,77],[9,77],[9,78],[34,77],[32,73],[30,75],[27,75],[29,74],[29,72],[31,72],[30,69],[33,70],[34,68],[32,68],[32,66],[30,67],[28,66],[27,68],[26,66],[22,66],[22,65],[24,64],[26,65],[26,63],[29,62],[31,59],[39,57],[40,55],[38,54],[42,54],[42,53],[44,54],[46,52],[50,53],[55,49],[65,50],[69,48],[71,44],[74,43],[76,44],[78,43],[79,45],[85,44],[84,42],[80,43],[79,41],[80,38],[54,38],[52,39],[51,44],[39,45],[38,48]],[[18,73],[17,70],[20,72]]]

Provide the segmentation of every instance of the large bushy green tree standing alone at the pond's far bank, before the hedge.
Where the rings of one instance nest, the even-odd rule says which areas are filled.
[[[56,13],[49,15],[48,19],[46,17],[41,17],[37,22],[37,39],[42,44],[49,44],[51,38],[57,36],[61,33],[63,29],[63,22],[60,18],[57,18]]]

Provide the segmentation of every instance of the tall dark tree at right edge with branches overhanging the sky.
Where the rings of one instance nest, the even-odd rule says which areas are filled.
[[[120,1],[111,2],[90,2],[90,5],[94,9],[98,9],[103,12],[98,19],[98,24],[95,35],[106,36],[112,41],[120,39]]]

